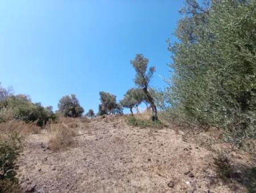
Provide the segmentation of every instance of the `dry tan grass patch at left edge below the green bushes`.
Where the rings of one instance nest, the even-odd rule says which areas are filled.
[[[17,132],[20,135],[38,134],[41,128],[36,125],[36,122],[26,123],[22,120],[10,120],[0,123],[0,131],[5,133]]]

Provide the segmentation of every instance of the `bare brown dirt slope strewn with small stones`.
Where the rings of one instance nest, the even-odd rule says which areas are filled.
[[[93,119],[66,150],[47,149],[47,134],[31,135],[19,160],[27,192],[247,192],[225,184],[213,153],[170,128],[130,127],[122,117]]]

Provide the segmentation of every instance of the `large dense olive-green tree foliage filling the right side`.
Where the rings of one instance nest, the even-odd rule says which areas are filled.
[[[256,138],[256,2],[185,2],[164,99],[184,120],[222,128],[242,147]]]

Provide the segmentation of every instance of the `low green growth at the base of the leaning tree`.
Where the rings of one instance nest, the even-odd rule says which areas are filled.
[[[140,128],[157,128],[162,129],[163,124],[158,121],[152,121],[152,120],[142,120],[142,119],[136,119],[134,116],[129,116],[127,118],[127,124],[132,125],[134,127],[140,127]]]

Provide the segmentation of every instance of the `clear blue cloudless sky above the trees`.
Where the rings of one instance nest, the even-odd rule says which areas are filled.
[[[143,53],[163,87],[183,0],[0,0],[0,82],[53,106],[76,94],[98,110],[99,91],[121,99]]]

